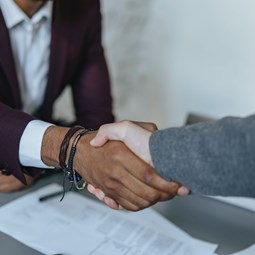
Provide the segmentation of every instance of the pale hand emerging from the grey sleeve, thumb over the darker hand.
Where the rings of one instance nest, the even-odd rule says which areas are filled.
[[[122,141],[138,157],[153,166],[149,149],[149,139],[154,130],[148,129],[150,126],[146,126],[145,124],[146,123],[121,121],[103,125],[90,143],[98,147],[104,145],[109,140]],[[189,189],[180,185],[177,194],[180,196],[187,195],[189,194]]]

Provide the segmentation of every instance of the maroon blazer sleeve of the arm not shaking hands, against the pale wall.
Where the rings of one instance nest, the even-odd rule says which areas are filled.
[[[73,87],[77,123],[99,128],[114,121],[110,78],[102,46],[102,25],[99,1],[93,1],[89,10],[88,32],[84,39],[86,49],[79,74]],[[89,125],[89,126],[88,126]]]

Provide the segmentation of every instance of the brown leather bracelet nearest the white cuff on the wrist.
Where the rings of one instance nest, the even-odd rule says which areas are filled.
[[[73,135],[79,131],[84,129],[84,127],[82,126],[74,126],[72,128],[70,128],[68,130],[68,132],[66,133],[61,145],[60,145],[60,151],[59,151],[59,166],[60,168],[62,168],[63,170],[66,168],[66,154],[67,154],[67,149],[69,146],[69,142],[71,140],[71,138],[73,137]]]

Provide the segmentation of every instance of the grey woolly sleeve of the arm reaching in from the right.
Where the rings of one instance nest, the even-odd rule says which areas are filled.
[[[255,115],[156,131],[150,151],[159,174],[192,194],[255,197]]]

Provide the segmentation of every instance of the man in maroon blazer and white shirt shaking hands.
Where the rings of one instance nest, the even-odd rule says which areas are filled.
[[[55,122],[52,118],[54,102],[67,85],[72,88],[75,106],[76,121],[72,125],[96,129],[114,120],[109,75],[101,43],[100,4],[99,0],[1,0],[0,4],[0,169],[26,183],[24,173],[37,175],[41,169],[41,163],[24,163],[21,160],[21,151],[29,145],[39,146],[40,160],[46,167],[60,167],[60,146],[70,128],[52,126],[50,123]],[[10,7],[13,4],[15,6]],[[22,41],[23,33],[15,29],[20,23],[24,27],[26,23],[32,23],[32,28],[30,26],[27,30],[36,31],[37,24],[33,24],[33,21],[38,13],[46,12],[38,24],[45,21],[45,6],[52,6],[50,28],[46,27],[51,32],[44,35],[45,41],[50,36],[49,49],[42,44],[36,53],[44,58],[41,51],[49,51],[47,82],[39,97],[41,103],[34,109],[34,114],[28,114],[24,111],[24,105],[29,101],[24,100],[24,91],[32,94],[34,89],[24,89],[20,77],[28,73],[27,83],[33,85],[44,70],[44,65],[36,63],[37,57],[29,62],[29,54],[20,53],[27,45],[27,39]],[[14,9],[19,15],[14,13],[11,16]],[[19,21],[21,10],[26,16]],[[12,23],[14,21],[16,23]],[[17,61],[17,56],[21,59],[23,56],[28,63],[23,66],[22,61]],[[37,90],[40,86],[39,83]],[[35,104],[38,102],[34,101]],[[37,120],[49,126],[43,135],[40,134],[40,144],[36,139],[27,139],[24,146],[23,137],[37,132],[31,128],[34,127],[31,123]],[[147,128],[151,128],[151,125],[147,125]],[[73,165],[77,173],[95,188],[101,189],[106,198],[114,199],[126,209],[140,210],[175,195],[178,184],[163,180],[123,143],[109,142],[97,149],[90,146],[89,142],[95,133],[89,132],[80,139]]]

